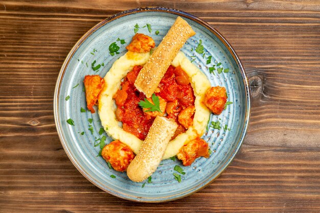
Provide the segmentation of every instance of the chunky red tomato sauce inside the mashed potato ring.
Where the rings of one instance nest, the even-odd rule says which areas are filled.
[[[144,113],[138,104],[146,98],[145,94],[139,92],[134,86],[134,81],[141,69],[142,66],[133,67],[132,71],[127,74],[121,83],[121,89],[117,91],[113,98],[117,105],[117,119],[122,122],[123,130],[144,140],[154,121],[154,117]],[[194,105],[195,96],[192,86],[189,83],[187,74],[179,66],[169,66],[155,94],[167,101],[167,117],[174,119],[177,124],[179,124],[179,112],[188,106]],[[171,106],[169,111],[168,106]],[[185,131],[186,129],[179,124],[173,138]]]

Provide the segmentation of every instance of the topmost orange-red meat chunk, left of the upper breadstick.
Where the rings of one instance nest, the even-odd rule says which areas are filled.
[[[155,47],[154,40],[145,34],[136,33],[126,49],[136,53],[150,52],[151,48]]]

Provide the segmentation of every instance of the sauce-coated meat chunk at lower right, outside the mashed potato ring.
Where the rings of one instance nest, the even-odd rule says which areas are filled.
[[[178,159],[186,166],[191,165],[200,156],[209,158],[210,154],[207,142],[199,137],[184,145],[177,154]]]

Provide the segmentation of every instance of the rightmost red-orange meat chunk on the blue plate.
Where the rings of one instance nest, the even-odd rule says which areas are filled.
[[[204,104],[213,113],[221,114],[226,102],[226,90],[221,86],[211,87],[205,92]]]

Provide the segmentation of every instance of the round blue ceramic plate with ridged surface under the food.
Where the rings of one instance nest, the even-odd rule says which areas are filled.
[[[130,42],[137,23],[140,27],[139,33],[151,36],[158,45],[178,15],[186,19],[196,32],[181,51],[207,75],[212,86],[220,85],[226,88],[228,101],[232,104],[228,105],[222,114],[211,115],[210,122],[219,121],[221,128],[210,127],[202,136],[208,141],[212,151],[209,159],[198,158],[190,167],[182,166],[177,159],[163,160],[152,174],[150,183],[132,182],[126,173],[109,169],[105,160],[97,157],[100,148],[94,146],[95,140],[106,136],[106,143],[109,143],[112,138],[105,132],[99,134],[102,126],[97,112],[94,114],[87,110],[81,112],[81,107],[86,109],[83,79],[85,75],[105,76],[113,62],[126,53],[127,44],[121,44],[117,39]],[[147,23],[151,26],[151,33],[144,27]],[[158,35],[155,34],[156,31],[159,32]],[[204,47],[204,56],[195,51],[200,40]],[[115,41],[120,46],[119,54],[111,56],[108,48]],[[207,64],[209,56],[211,62]],[[94,61],[96,61],[94,66],[102,63],[104,66],[95,72],[92,69]],[[214,73],[210,73],[210,69],[213,68],[209,67],[215,68]],[[66,101],[66,97],[70,99]],[[247,79],[231,45],[203,20],[168,8],[139,8],[124,11],[101,21],[89,30],[66,57],[60,70],[54,97],[58,134],[66,154],[75,167],[102,190],[127,200],[142,202],[163,202],[185,197],[217,178],[230,164],[241,146],[247,129],[249,109]],[[66,122],[68,119],[74,121],[74,126]],[[89,123],[88,119],[92,119],[93,122]],[[185,175],[181,175],[181,182],[174,179],[175,165],[179,165],[186,172]]]

